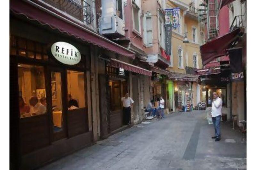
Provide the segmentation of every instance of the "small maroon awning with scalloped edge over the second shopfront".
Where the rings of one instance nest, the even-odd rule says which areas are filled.
[[[129,63],[125,63],[120,60],[116,60],[114,58],[110,59],[109,66],[116,67],[116,68],[123,68],[124,70],[132,71],[139,74],[144,74],[146,76],[152,76],[152,71],[143,69],[141,67],[138,67]]]

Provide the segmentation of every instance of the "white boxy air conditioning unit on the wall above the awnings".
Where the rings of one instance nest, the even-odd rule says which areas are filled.
[[[116,15],[102,16],[100,19],[100,34],[111,38],[124,37],[124,21]]]

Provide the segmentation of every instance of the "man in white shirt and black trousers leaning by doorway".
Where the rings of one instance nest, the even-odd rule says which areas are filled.
[[[122,97],[123,102],[123,122],[124,125],[131,124],[131,107],[134,101],[132,98],[128,97],[128,93],[125,93],[125,96]]]

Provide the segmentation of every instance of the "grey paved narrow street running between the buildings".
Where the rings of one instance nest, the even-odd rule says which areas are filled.
[[[180,112],[142,122],[41,169],[246,169],[242,133],[222,122],[215,142],[204,117],[204,111]]]

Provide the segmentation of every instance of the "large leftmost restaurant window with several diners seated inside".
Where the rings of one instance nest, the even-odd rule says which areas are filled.
[[[46,113],[44,67],[18,64],[20,118]]]

